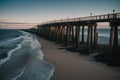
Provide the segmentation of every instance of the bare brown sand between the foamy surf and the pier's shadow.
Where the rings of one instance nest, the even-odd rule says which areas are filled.
[[[55,66],[51,80],[120,80],[119,72],[103,67],[74,52],[58,49],[54,42],[38,38],[46,61]]]

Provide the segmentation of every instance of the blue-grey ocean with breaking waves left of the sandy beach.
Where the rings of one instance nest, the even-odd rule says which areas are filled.
[[[50,80],[54,66],[44,60],[34,34],[0,30],[0,80]]]

